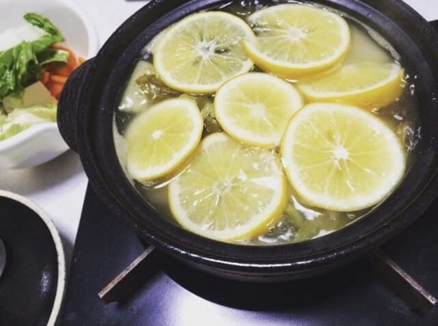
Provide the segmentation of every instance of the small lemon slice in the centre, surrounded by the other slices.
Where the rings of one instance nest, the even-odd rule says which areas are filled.
[[[279,145],[289,118],[302,107],[295,87],[270,74],[250,72],[224,83],[214,109],[220,126],[252,146]]]

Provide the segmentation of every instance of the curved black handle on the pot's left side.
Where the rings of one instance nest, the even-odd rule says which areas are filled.
[[[57,103],[57,126],[67,145],[77,152],[77,110],[81,91],[94,58],[83,62],[68,77]]]

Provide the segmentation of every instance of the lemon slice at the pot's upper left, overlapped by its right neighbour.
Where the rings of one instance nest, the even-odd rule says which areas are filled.
[[[253,30],[232,14],[192,14],[170,27],[159,40],[155,70],[176,90],[211,94],[227,79],[253,67],[242,44],[252,38]]]

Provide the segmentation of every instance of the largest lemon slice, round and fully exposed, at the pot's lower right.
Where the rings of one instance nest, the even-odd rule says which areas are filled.
[[[381,202],[400,182],[405,154],[396,134],[372,113],[314,103],[290,120],[281,160],[307,203],[354,211]]]

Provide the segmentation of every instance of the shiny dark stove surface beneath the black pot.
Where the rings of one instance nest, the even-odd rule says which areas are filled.
[[[385,252],[438,297],[438,201]],[[130,299],[105,304],[99,291],[144,250],[89,187],[60,325],[438,325],[411,310],[366,260],[305,282],[242,284],[179,265],[146,277]],[[436,310],[436,308],[435,308]],[[437,318],[437,319],[435,319]]]

